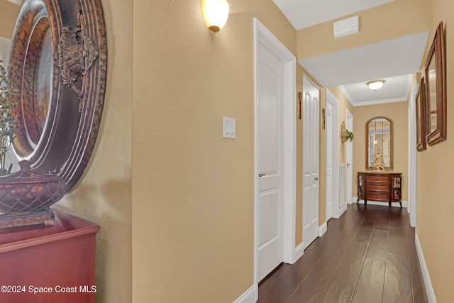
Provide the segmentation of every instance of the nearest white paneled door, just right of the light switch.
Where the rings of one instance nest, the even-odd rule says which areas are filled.
[[[259,280],[284,260],[282,199],[282,102],[284,65],[265,47],[258,49],[258,245]]]

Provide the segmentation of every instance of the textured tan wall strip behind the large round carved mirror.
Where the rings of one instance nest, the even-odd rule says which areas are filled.
[[[106,23],[106,97],[94,153],[56,208],[96,222],[96,302],[132,297],[131,125],[133,6],[101,0]]]

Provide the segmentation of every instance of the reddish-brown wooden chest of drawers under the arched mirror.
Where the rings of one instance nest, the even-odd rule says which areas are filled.
[[[358,201],[399,202],[402,207],[402,174],[399,172],[358,172]]]

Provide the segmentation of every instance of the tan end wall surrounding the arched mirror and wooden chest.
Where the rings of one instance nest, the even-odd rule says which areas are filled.
[[[356,184],[357,172],[365,169],[366,122],[375,116],[384,116],[394,122],[394,170],[402,172],[402,201],[407,201],[408,182],[408,102],[394,102],[368,106],[355,106],[353,108],[353,197],[358,197]],[[391,170],[390,170],[391,171]],[[386,204],[384,204],[386,205]]]

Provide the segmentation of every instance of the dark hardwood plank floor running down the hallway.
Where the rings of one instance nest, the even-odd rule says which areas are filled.
[[[296,263],[260,283],[258,302],[428,302],[406,209],[349,204]]]

